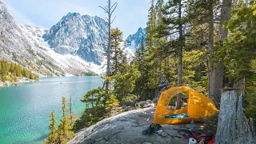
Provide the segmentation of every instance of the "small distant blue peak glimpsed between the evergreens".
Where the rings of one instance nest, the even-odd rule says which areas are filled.
[[[126,38],[124,48],[130,49],[134,52],[141,45],[142,38],[146,38],[146,29],[142,29],[140,27],[136,34],[131,34]]]

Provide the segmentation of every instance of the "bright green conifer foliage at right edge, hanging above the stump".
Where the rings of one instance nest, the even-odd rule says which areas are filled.
[[[214,60],[224,58],[228,86],[234,86],[242,78],[245,78],[246,82],[255,81],[256,75],[252,67],[256,58],[255,10],[254,1],[250,2],[250,6],[241,2],[232,10],[232,18],[224,25],[230,34],[224,42],[219,42],[214,47]]]

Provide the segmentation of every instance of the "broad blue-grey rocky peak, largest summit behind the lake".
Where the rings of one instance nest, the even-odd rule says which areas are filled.
[[[100,65],[106,50],[107,27],[97,16],[69,13],[43,35],[49,46],[58,54],[74,54],[86,62]]]

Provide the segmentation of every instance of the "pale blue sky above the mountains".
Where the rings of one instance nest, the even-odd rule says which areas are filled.
[[[69,12],[98,15],[106,13],[98,6],[106,6],[106,0],[2,0],[16,22],[30,23],[50,28]],[[150,0],[112,0],[118,2],[113,26],[123,31],[124,37],[134,34],[139,27],[145,28]]]

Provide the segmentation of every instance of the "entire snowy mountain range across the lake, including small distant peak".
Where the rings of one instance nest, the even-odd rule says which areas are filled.
[[[0,0],[0,59],[18,62],[41,75],[103,74],[106,57],[106,24],[97,16],[69,13],[50,29],[17,24]],[[122,47],[129,61],[146,38],[140,28]]]

